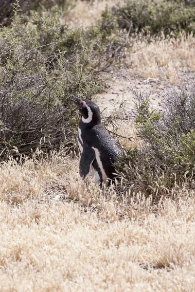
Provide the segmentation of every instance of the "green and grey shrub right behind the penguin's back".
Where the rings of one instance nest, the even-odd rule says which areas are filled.
[[[147,94],[133,92],[142,146],[129,149],[119,169],[126,185],[157,198],[195,178],[195,87],[166,93],[163,110],[152,109]]]

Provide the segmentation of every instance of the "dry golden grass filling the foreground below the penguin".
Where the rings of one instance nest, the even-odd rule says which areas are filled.
[[[195,291],[193,194],[119,192],[82,182],[77,158],[3,164],[0,291]]]

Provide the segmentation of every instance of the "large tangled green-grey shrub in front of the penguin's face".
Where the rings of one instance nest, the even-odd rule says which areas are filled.
[[[17,154],[16,147],[23,154],[75,147],[71,96],[90,99],[102,91],[98,73],[123,50],[100,26],[84,31],[61,24],[58,8],[24,17],[18,8],[12,24],[0,28],[0,158]]]

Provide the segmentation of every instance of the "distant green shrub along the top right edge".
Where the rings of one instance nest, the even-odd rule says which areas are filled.
[[[111,13],[103,13],[103,23],[109,29],[117,26],[130,34],[144,32],[158,35],[163,32],[165,36],[176,36],[181,31],[195,33],[195,3],[184,0],[127,0],[123,7],[114,6]]]

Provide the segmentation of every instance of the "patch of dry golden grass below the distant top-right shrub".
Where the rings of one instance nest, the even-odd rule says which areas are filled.
[[[148,41],[149,40],[149,41]],[[126,53],[125,64],[144,78],[166,77],[169,83],[182,81],[182,73],[195,71],[195,37],[142,37]]]

